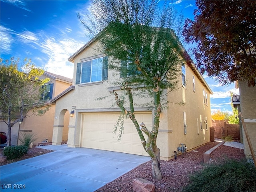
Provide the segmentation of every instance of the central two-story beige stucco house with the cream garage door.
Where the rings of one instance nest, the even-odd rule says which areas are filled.
[[[61,144],[64,114],[68,111],[74,112],[69,121],[69,147],[148,155],[130,119],[125,121],[121,141],[117,141],[118,133],[115,135],[113,130],[120,108],[112,106],[114,95],[96,100],[114,92],[122,92],[119,86],[110,84],[121,77],[113,76],[113,72],[108,70],[108,57],[97,52],[97,46],[98,42],[92,40],[68,58],[74,63],[73,86],[51,100],[51,103],[56,103],[52,144]],[[98,65],[94,65],[96,62]],[[166,100],[170,103],[160,115],[158,148],[162,160],[172,158],[174,151],[179,153],[177,148],[180,144],[186,144],[187,149],[192,150],[210,141],[212,90],[196,68],[184,64],[180,72],[180,89],[166,94]],[[133,88],[133,91],[140,90]],[[145,100],[147,98],[134,98],[136,103]],[[182,106],[175,104],[182,101],[185,103]],[[144,122],[151,130],[152,107],[137,107],[135,110],[138,123]]]

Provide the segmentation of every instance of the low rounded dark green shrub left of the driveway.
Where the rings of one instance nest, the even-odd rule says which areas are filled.
[[[4,148],[3,154],[7,157],[7,160],[12,160],[22,157],[28,153],[28,147],[24,145],[8,146]]]

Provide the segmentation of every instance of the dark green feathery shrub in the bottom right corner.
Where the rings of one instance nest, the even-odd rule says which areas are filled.
[[[246,160],[225,160],[190,176],[184,192],[255,192],[256,168]]]

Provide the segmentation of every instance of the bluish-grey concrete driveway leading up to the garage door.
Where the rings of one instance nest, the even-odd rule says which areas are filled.
[[[67,145],[54,152],[0,167],[1,192],[93,192],[150,157]],[[24,188],[25,187],[25,188]]]

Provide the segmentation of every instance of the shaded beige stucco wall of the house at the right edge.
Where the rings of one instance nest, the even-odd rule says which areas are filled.
[[[245,81],[239,81],[240,106],[244,122],[254,149],[256,152],[256,86],[248,87]],[[243,129],[244,154],[246,158],[252,158],[250,148]]]

